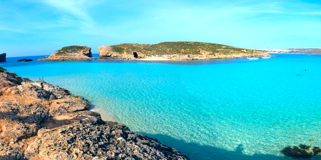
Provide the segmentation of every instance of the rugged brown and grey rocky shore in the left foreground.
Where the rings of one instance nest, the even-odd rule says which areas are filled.
[[[42,85],[43,87],[42,87]],[[188,159],[59,86],[0,73],[0,159]]]

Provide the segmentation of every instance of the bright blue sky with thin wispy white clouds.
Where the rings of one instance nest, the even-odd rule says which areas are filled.
[[[252,49],[321,47],[320,0],[1,0],[0,53],[69,45],[195,41]]]

